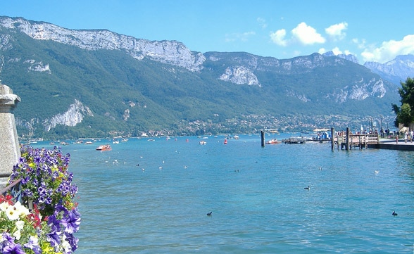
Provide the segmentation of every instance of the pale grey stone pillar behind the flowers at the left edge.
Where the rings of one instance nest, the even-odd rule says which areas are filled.
[[[9,177],[20,158],[20,145],[13,109],[20,97],[10,87],[0,84],[0,177]]]

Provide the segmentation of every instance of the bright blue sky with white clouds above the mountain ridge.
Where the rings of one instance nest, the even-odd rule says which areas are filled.
[[[0,15],[176,40],[202,53],[285,59],[334,51],[351,53],[361,64],[414,53],[413,13],[413,0],[0,1]]]

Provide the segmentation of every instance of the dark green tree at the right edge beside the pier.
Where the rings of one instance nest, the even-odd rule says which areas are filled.
[[[414,122],[414,80],[407,77],[406,82],[400,82],[399,94],[401,97],[401,107],[396,104],[391,104],[394,113],[396,114],[395,126],[402,124],[408,127],[410,122]]]

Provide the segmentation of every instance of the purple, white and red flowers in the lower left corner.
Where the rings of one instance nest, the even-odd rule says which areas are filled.
[[[73,253],[80,213],[70,155],[30,146],[22,146],[21,154],[8,181],[21,179],[20,191],[0,196],[0,252]]]

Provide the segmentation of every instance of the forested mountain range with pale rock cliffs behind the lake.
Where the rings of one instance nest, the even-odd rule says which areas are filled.
[[[140,136],[356,128],[394,118],[413,55],[384,65],[196,52],[108,30],[0,17],[0,81],[21,98],[25,137]]]

